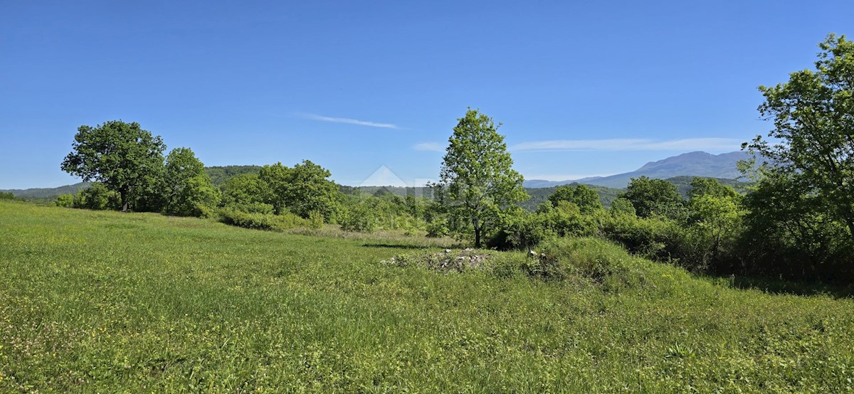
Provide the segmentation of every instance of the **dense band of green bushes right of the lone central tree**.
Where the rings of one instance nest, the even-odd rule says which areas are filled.
[[[683,198],[673,183],[640,177],[605,209],[586,186],[561,186],[535,212],[504,215],[488,246],[536,248],[559,237],[599,236],[695,272],[854,279],[854,242],[845,223],[810,204],[814,197],[781,195],[785,190],[763,178],[740,194],[717,179],[695,177]]]

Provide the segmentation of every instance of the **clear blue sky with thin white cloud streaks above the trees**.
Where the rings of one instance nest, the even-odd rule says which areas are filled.
[[[527,179],[738,150],[759,84],[812,67],[854,2],[0,0],[0,188],[75,183],[79,125],[139,122],[206,165],[438,177],[466,107]]]

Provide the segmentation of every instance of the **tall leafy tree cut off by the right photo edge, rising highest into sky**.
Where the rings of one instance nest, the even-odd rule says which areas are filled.
[[[799,194],[821,200],[854,240],[854,43],[830,34],[819,48],[815,70],[759,87],[759,113],[774,129],[769,140],[757,136],[742,148],[761,154],[765,170],[789,179]]]

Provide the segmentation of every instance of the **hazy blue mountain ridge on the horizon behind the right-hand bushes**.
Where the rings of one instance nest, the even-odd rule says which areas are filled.
[[[751,158],[751,154],[746,152],[730,152],[728,154],[689,152],[687,154],[671,156],[667,159],[651,161],[635,171],[611,175],[609,177],[588,177],[557,182],[532,179],[525,181],[524,186],[526,188],[550,188],[569,183],[587,183],[607,188],[625,188],[631,181],[631,178],[643,176],[657,179],[672,177],[735,179],[741,175],[738,170],[739,160]]]

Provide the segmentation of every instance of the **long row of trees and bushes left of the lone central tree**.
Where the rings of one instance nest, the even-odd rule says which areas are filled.
[[[348,231],[400,229],[415,235],[428,230],[430,200],[361,194],[358,189],[345,194],[329,179],[330,171],[309,160],[292,167],[277,163],[206,169],[190,148],[163,156],[165,149],[160,136],[137,123],[81,126],[61,166],[91,186],[60,195],[56,205],[217,217],[250,229],[332,223]]]

